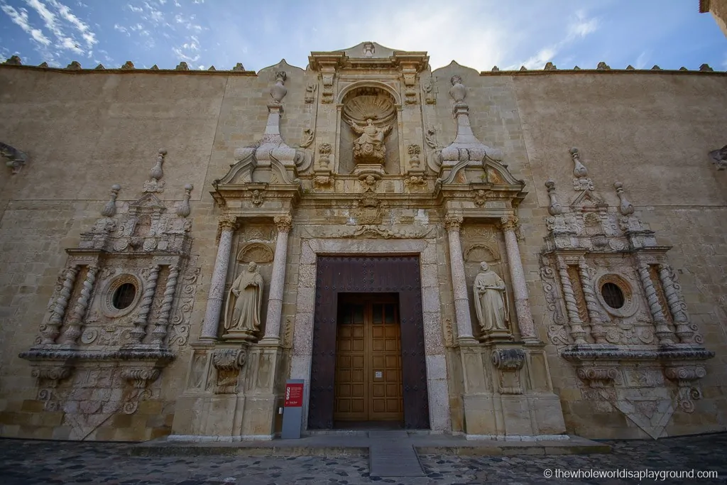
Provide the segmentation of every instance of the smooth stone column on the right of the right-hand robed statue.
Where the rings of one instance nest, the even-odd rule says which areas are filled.
[[[524,342],[540,342],[535,333],[533,315],[530,311],[530,300],[528,298],[528,286],[525,282],[525,270],[523,260],[518,248],[518,236],[515,230],[518,228],[518,218],[514,215],[500,219],[500,229],[505,235],[505,250],[507,251],[507,262],[510,264],[510,278],[513,282],[513,295],[515,296],[515,314],[518,316],[518,329],[520,337]]]

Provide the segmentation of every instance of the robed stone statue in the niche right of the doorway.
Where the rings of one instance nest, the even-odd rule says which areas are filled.
[[[505,281],[489,268],[486,262],[480,264],[473,287],[477,320],[482,332],[507,330],[510,311],[507,305]]]

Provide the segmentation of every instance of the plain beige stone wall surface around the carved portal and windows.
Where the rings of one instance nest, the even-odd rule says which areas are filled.
[[[57,273],[65,263],[63,250],[76,246],[79,234],[91,228],[113,183],[122,185],[122,203],[140,196],[158,148],[169,152],[164,164],[166,190],[161,199],[172,207],[181,199],[186,183],[195,186],[190,234],[194,238],[192,252],[201,268],[201,284],[190,319],[190,340],[198,336],[217,249],[220,211],[209,195],[212,181],[228,171],[235,148],[262,136],[268,115],[265,104],[278,70],[286,71],[289,89],[281,132],[286,143],[295,146],[316,115],[316,105],[303,102],[305,84],[315,81],[316,74],[289,65],[271,66],[257,76],[0,67],[2,141],[30,155],[20,174],[9,175],[6,167],[0,173],[0,434],[65,437],[64,431],[57,431],[57,416],[43,418],[38,412],[35,380],[28,363],[17,354],[33,345]],[[696,412],[675,414],[667,432],[723,430],[727,425],[727,400],[720,385],[727,377],[723,371],[727,350],[723,296],[727,223],[723,221],[727,207],[725,174],[710,164],[707,151],[725,143],[720,127],[727,121],[727,76],[624,72],[480,75],[452,64],[433,73],[438,93],[435,105],[422,105],[424,115],[420,118],[412,114],[420,105],[405,108],[403,137],[406,143],[422,144],[422,155],[433,155],[421,140],[427,127],[435,128],[440,145],[454,139],[449,97],[449,78],[454,73],[461,75],[467,86],[475,135],[486,145],[501,149],[510,172],[526,181],[529,195],[518,208],[523,235],[520,248],[532,313],[542,340],[547,342],[546,329],[552,318],[545,305],[537,258],[546,235],[548,199],[544,184],[548,177],[555,180],[561,204],[574,199],[577,194],[572,191],[573,164],[568,150],[575,146],[581,150],[582,161],[603,198],[616,204],[613,183],[624,183],[643,222],[656,231],[657,241],[674,246],[670,262],[680,273],[691,318],[699,324],[707,348],[717,353],[707,364],[708,374],[702,382],[704,398],[697,401]],[[326,105],[318,116],[319,131],[311,148],[323,137],[329,143],[334,141],[334,106]],[[335,151],[334,147],[334,155]],[[391,180],[386,184],[387,190],[403,187]],[[340,181],[337,190],[351,192],[354,185],[353,180]],[[310,189],[310,181],[304,186]],[[438,209],[424,210],[422,214],[432,223],[443,215]],[[294,345],[299,283],[311,277],[300,273],[305,247],[300,224],[345,224],[346,217],[345,210],[310,205],[294,212],[296,227],[289,239],[290,265],[281,322],[283,331],[289,332],[284,339],[288,344]],[[424,216],[411,209],[385,222],[406,224],[414,217]],[[448,345],[449,339],[446,320],[454,318],[454,312],[446,233],[441,228],[436,231],[440,231],[435,245],[443,327],[443,339],[438,343],[441,354],[445,352],[441,342]],[[466,233],[465,227],[465,249],[473,241]],[[468,278],[475,271],[470,263]],[[234,270],[230,268],[230,277]],[[509,282],[506,264],[501,271]],[[598,438],[646,437],[623,414],[583,401],[570,364],[552,345],[547,350],[553,386],[561,396],[570,433]],[[446,352],[451,425],[461,430],[461,382],[457,381],[461,371],[454,353]],[[90,438],[144,439],[168,433],[169,416],[185,388],[190,355],[191,349],[186,347],[164,370],[155,398],[140,408],[142,417],[128,418],[132,424],[125,422],[126,417],[114,417],[101,427],[105,430]],[[293,372],[300,374],[305,369]],[[443,402],[447,386],[441,374],[436,378],[440,385],[436,401]],[[440,423],[445,421],[439,419]]]

